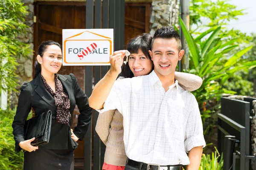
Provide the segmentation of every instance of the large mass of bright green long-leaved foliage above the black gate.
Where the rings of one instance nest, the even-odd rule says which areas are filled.
[[[216,113],[220,112],[221,96],[253,95],[256,47],[250,44],[255,45],[256,36],[248,36],[236,27],[225,28],[230,20],[238,20],[245,14],[229,0],[190,0],[189,10],[189,31],[182,28],[184,24],[180,22],[190,50],[189,71],[185,72],[197,74],[204,80],[193,94],[201,111],[206,142],[213,142],[204,150],[209,153],[216,144]]]

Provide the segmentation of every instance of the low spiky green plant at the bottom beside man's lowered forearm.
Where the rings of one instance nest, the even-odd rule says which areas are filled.
[[[215,152],[212,154],[203,154],[199,170],[222,170],[223,169],[223,156],[218,152],[215,147]]]

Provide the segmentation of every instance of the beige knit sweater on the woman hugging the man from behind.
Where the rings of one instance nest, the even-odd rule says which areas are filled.
[[[194,74],[175,72],[175,79],[187,91],[194,91],[202,85],[202,79]],[[125,155],[123,142],[124,129],[122,114],[118,110],[110,110],[99,114],[96,132],[106,145],[105,163],[125,166],[127,156]]]

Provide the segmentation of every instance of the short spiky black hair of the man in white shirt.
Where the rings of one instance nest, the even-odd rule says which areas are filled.
[[[157,31],[154,33],[153,40],[151,41],[151,49],[153,47],[154,40],[157,38],[163,38],[163,39],[172,39],[174,38],[177,41],[177,48],[178,51],[181,50],[181,41],[180,41],[180,35],[178,31],[176,31],[174,28],[169,26],[164,26],[162,28],[158,28]]]

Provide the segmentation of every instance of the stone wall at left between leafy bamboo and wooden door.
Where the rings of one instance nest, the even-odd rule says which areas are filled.
[[[33,18],[34,18],[34,0],[23,0],[23,3],[25,6],[28,6],[28,11],[29,13],[27,14],[25,20],[26,20],[26,25],[29,26],[27,28],[27,33],[26,34],[20,34],[17,39],[20,40],[21,42],[24,42],[26,44],[30,45],[30,48],[33,50],[34,49],[34,30],[33,30]],[[15,108],[17,106],[18,102],[18,96],[20,94],[20,86],[23,84],[24,81],[31,81],[32,80],[32,74],[33,74],[33,54],[30,54],[27,58],[21,57],[20,59],[17,59],[17,62],[19,65],[17,65],[17,81],[18,85],[16,89],[18,90],[17,93],[12,92],[10,95],[10,102],[11,108]]]

